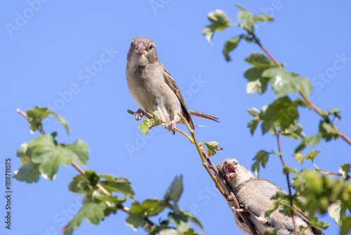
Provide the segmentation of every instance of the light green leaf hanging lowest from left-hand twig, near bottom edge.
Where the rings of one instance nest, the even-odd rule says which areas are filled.
[[[74,229],[77,229],[81,222],[86,219],[91,224],[99,224],[104,218],[105,203],[87,203],[81,207],[81,210],[69,222],[69,226],[65,229],[65,235],[71,235]]]

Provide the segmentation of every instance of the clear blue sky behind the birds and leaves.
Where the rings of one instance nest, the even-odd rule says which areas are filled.
[[[48,133],[57,130],[58,141],[67,144],[77,139],[86,141],[90,148],[86,169],[127,177],[135,189],[135,199],[140,201],[162,198],[174,177],[183,174],[185,190],[180,208],[196,215],[207,234],[240,234],[227,202],[212,189],[213,182],[194,146],[184,136],[173,136],[161,127],[142,137],[140,122],[126,113],[138,109],[126,85],[126,53],[133,37],[150,37],[157,45],[160,61],[183,91],[188,107],[220,118],[220,124],[194,118],[197,125],[206,126],[196,129],[197,139],[218,141],[224,148],[213,157],[214,163],[234,157],[251,168],[258,151],[277,149],[274,136],[262,136],[258,129],[251,137],[246,128],[251,119],[246,110],[274,100],[271,89],[264,96],[246,94],[243,73],[249,65],[244,58],[260,50],[241,44],[232,53],[234,61],[227,63],[223,45],[237,30],[216,32],[213,46],[201,34],[208,25],[206,15],[210,11],[222,9],[236,20],[238,9],[233,2],[162,1],[162,7],[156,10],[150,1],[46,1],[40,6],[32,2],[38,1],[0,4],[1,172],[4,158],[12,158],[13,170],[17,170],[20,160],[15,153],[20,144],[39,136],[29,134],[27,121],[15,112],[16,108],[51,106],[67,120],[71,134],[67,136],[56,120],[44,123],[44,129]],[[267,11],[274,16],[274,23],[258,31],[263,44],[278,61],[286,63],[288,70],[314,78],[312,101],[324,110],[340,108],[343,118],[336,124],[351,136],[350,2],[237,3],[253,13]],[[30,5],[36,11],[30,10]],[[25,15],[27,20],[21,21],[18,15]],[[9,24],[19,27],[8,31]],[[105,51],[110,51],[110,56],[101,58]],[[343,54],[348,58],[343,68],[333,70],[338,55]],[[340,65],[340,61],[337,63]],[[95,66],[95,72],[89,74],[86,68],[91,66]],[[321,80],[319,74],[330,79]],[[319,120],[315,113],[302,110],[300,122],[307,135],[317,134]],[[180,128],[185,130],[185,126]],[[299,167],[291,157],[298,144],[282,139],[284,158],[291,167]],[[138,150],[128,153],[127,146]],[[322,141],[313,149],[321,151],[317,165],[324,170],[338,172],[340,165],[350,161],[351,147],[342,139],[329,144]],[[313,168],[309,163],[303,166]],[[60,167],[53,182],[43,178],[36,184],[13,181],[13,230],[6,231],[2,219],[0,233],[60,234],[68,222],[66,218],[71,219],[81,205],[81,196],[67,190],[77,173],[72,166]],[[0,175],[0,181],[5,182],[4,174]],[[287,189],[282,164],[274,156],[260,177]],[[4,218],[4,197],[0,198],[0,217]],[[145,234],[141,229],[134,232],[127,227],[125,217],[124,212],[118,212],[99,226],[83,222],[74,234]],[[331,223],[326,234],[337,234],[335,222],[326,221]]]

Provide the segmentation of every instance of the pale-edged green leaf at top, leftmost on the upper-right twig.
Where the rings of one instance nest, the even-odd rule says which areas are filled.
[[[232,25],[232,21],[225,15],[224,11],[216,10],[211,13],[208,13],[208,20],[211,21],[211,25],[204,27],[202,34],[206,36],[207,42],[211,43],[213,33],[215,31],[222,31],[225,28]]]

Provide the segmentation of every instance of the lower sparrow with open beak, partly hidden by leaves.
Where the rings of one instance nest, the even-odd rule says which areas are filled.
[[[254,224],[258,235],[265,234],[268,229],[275,229],[277,234],[293,235],[293,220],[278,210],[274,210],[270,216],[265,217],[265,212],[274,208],[270,198],[281,191],[278,186],[266,179],[259,179],[245,167],[239,164],[234,158],[227,158],[217,165],[218,172],[227,179],[232,192],[237,197],[240,204],[239,209],[235,209],[228,201],[228,205],[234,213],[235,224],[245,234],[251,234],[249,227],[239,217],[238,212],[245,212],[249,220]],[[296,227],[303,226],[307,228],[302,235],[323,234],[323,232],[314,227],[308,227],[307,213],[296,208],[294,212]]]

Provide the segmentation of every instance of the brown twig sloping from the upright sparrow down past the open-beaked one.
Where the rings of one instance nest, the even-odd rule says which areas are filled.
[[[187,120],[185,120],[185,118],[180,115],[180,113],[178,113],[178,116],[180,118],[182,118],[183,122],[185,123],[185,125],[187,126],[187,129],[189,130],[190,134],[192,135],[192,139],[194,141],[195,146],[197,147],[197,151],[199,152],[201,161],[202,161],[202,165],[206,168],[206,171],[208,172],[208,174],[210,175],[211,179],[213,180],[213,182],[215,183],[217,189],[220,191],[220,193],[222,193],[222,195],[225,197],[225,199],[227,201],[232,201],[232,203],[234,204],[234,208],[239,209],[240,205],[239,202],[237,201],[236,196],[234,195],[234,193],[232,192],[232,189],[230,189],[230,186],[227,182],[226,179],[224,179],[222,177],[222,175],[219,174],[218,169],[215,165],[213,165],[211,158],[208,156],[208,154],[206,153],[206,151],[204,150],[204,148],[202,148],[198,143],[197,143],[197,139],[195,137],[195,132],[194,130],[192,130],[190,128],[189,123],[187,122]],[[205,158],[208,162],[208,165],[206,164]],[[216,176],[212,174],[210,168],[213,170],[213,172],[215,172]],[[217,178],[218,177],[218,178]],[[223,183],[223,185],[225,186],[225,189],[227,192],[230,192],[230,195],[228,195],[220,186],[218,179],[220,179],[220,181]],[[244,223],[249,227],[251,234],[252,235],[257,235],[256,229],[255,227],[253,227],[252,222],[249,220],[249,218],[247,217],[245,212],[239,212],[240,217],[244,220]]]

